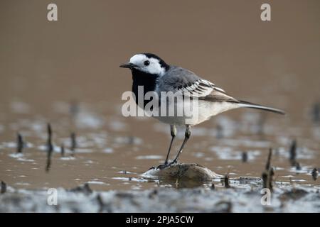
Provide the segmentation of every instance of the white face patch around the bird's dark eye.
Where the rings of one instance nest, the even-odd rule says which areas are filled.
[[[149,65],[144,65],[144,62],[148,60],[150,62]],[[137,70],[141,70],[150,74],[159,74],[163,76],[166,70],[161,67],[159,60],[154,57],[146,57],[146,55],[134,55],[130,58],[130,63],[137,65],[139,68]]]

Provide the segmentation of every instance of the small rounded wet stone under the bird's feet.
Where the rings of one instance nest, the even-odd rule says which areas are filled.
[[[206,167],[198,165],[196,163],[178,163],[166,167],[162,170],[152,167],[150,170],[144,172],[142,177],[146,179],[155,178],[168,178],[168,179],[188,179],[196,182],[207,182],[215,178],[220,178],[221,175],[217,175]]]

